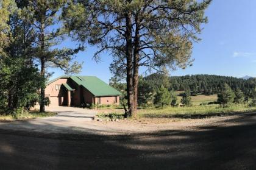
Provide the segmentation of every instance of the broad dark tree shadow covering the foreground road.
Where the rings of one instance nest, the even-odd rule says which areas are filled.
[[[256,115],[240,115],[225,123],[116,136],[97,135],[90,129],[77,134],[0,130],[0,165],[3,169],[256,169]],[[42,126],[51,125],[38,128]]]

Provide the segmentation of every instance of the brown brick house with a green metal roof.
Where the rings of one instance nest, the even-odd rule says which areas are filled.
[[[50,105],[80,107],[88,104],[119,104],[121,93],[95,76],[60,76],[46,83]]]

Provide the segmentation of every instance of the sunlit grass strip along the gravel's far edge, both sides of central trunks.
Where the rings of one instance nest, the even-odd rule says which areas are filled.
[[[124,112],[113,110],[110,113],[99,113],[101,119],[123,119]],[[227,116],[237,113],[256,112],[256,107],[248,107],[246,104],[230,105],[223,108],[218,104],[193,105],[191,107],[160,107],[139,109],[137,118],[205,118],[211,116]]]

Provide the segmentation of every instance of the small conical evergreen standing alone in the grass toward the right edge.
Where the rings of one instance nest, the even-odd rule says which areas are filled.
[[[227,107],[228,104],[234,101],[234,98],[235,93],[232,91],[229,85],[225,83],[221,93],[218,94],[219,104],[221,104],[223,107]]]

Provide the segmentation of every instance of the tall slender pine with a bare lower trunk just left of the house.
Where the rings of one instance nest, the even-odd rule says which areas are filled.
[[[79,64],[69,65],[73,60],[74,54],[77,54],[81,47],[77,49],[54,48],[60,44],[67,34],[63,29],[61,18],[58,12],[65,7],[66,0],[32,0],[27,1],[27,6],[23,10],[23,17],[27,23],[33,26],[35,32],[35,58],[40,61],[40,74],[46,77],[46,64],[61,68],[66,73],[70,73],[67,68],[76,70],[74,67],[80,67]],[[77,71],[77,70],[76,70]],[[44,112],[44,85],[41,87],[40,94],[40,112]]]

